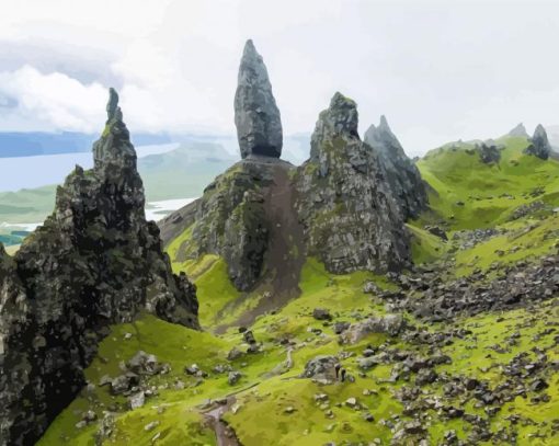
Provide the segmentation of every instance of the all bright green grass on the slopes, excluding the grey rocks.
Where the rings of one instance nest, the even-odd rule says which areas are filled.
[[[546,215],[544,216],[546,218],[526,217],[515,221],[507,221],[507,217],[518,205],[536,199],[525,192],[540,185],[540,182],[546,184],[544,199],[552,206],[559,205],[557,202],[559,163],[552,161],[546,164],[532,157],[522,156],[524,142],[518,138],[510,138],[506,142],[507,148],[503,151],[501,168],[483,165],[477,161],[477,156],[468,155],[465,150],[433,152],[420,161],[422,174],[438,195],[431,194],[433,211],[410,224],[410,230],[414,236],[412,250],[418,263],[454,259],[455,272],[468,274],[474,267],[487,268],[495,261],[514,262],[529,255],[541,255],[552,249],[557,238],[549,237],[549,233],[554,235],[557,230],[558,217]],[[512,159],[516,161],[511,163]],[[514,165],[516,163],[517,165]],[[514,198],[499,197],[505,192]],[[492,195],[492,198],[489,198],[489,195]],[[483,199],[477,199],[478,197]],[[456,206],[457,201],[463,201],[466,205]],[[452,215],[455,216],[454,219],[449,218]],[[438,221],[441,218],[450,225],[450,238],[455,230],[487,227],[488,218],[494,219],[509,232],[474,248],[453,252],[455,245],[452,241],[444,243],[422,228],[425,222]],[[526,228],[532,229],[526,231]],[[168,247],[171,259],[175,258],[178,248],[187,237],[189,230]],[[522,249],[513,250],[512,248],[516,245]],[[495,253],[497,250],[505,253],[500,256]],[[238,315],[250,309],[261,298],[258,295],[241,296],[236,291],[227,278],[224,261],[217,256],[207,255],[196,262],[173,262],[173,268],[186,271],[195,279],[201,300],[201,320],[206,327],[213,327],[218,322],[215,315],[219,315],[219,322],[224,319],[235,321]],[[363,294],[363,284],[367,281],[374,281],[380,287],[392,286],[383,277],[365,272],[331,275],[320,263],[309,259],[300,278],[301,296],[273,315],[259,317],[251,328],[256,340],[263,343],[263,353],[243,356],[232,363],[233,368],[243,374],[235,387],[227,384],[226,375],[214,373],[210,373],[202,385],[195,386],[193,378],[184,375],[182,369],[185,365],[196,363],[204,370],[210,371],[213,366],[227,363],[229,350],[241,344],[241,335],[237,330],[230,329],[224,335],[197,333],[150,316],[142,317],[135,324],[114,327],[113,333],[101,345],[99,358],[87,370],[87,376],[92,382],[98,381],[104,374],[116,374],[118,362],[132,357],[138,350],[153,353],[160,361],[169,362],[172,373],[167,377],[152,378],[155,385],[163,387],[159,390],[159,396],[148,400],[144,408],[118,412],[116,437],[111,444],[147,445],[157,432],[162,434],[158,444],[215,444],[212,432],[204,426],[197,405],[207,399],[224,397],[231,392],[239,392],[237,411],[228,412],[225,418],[244,446],[323,445],[327,442],[358,444],[372,442],[374,438],[387,444],[392,433],[379,421],[395,415],[402,416],[402,407],[392,397],[393,391],[401,387],[402,382],[401,380],[396,384],[384,382],[383,379],[389,377],[391,368],[385,365],[360,376],[355,356],[352,354],[361,354],[366,345],[379,345],[386,341],[389,341],[392,347],[427,354],[424,351],[425,346],[407,344],[398,338],[387,340],[384,334],[372,334],[356,345],[341,346],[332,328],[311,317],[316,307],[329,308],[336,321],[356,322],[367,315],[384,313],[386,309],[379,299]],[[453,363],[437,366],[437,371],[488,379],[492,386],[502,382],[500,365],[507,363],[521,352],[533,355],[531,350],[534,346],[552,345],[554,332],[546,333],[544,330],[558,320],[558,308],[556,298],[529,310],[482,315],[456,320],[445,327],[429,327],[430,330],[466,328],[472,331],[471,335],[444,347],[444,353],[452,357]],[[517,345],[510,347],[505,353],[491,350],[493,345],[504,345],[506,338],[514,331],[522,333],[522,340]],[[132,340],[123,341],[127,332],[134,335]],[[535,336],[536,334],[539,336]],[[292,369],[285,366],[286,347],[278,342],[282,339],[289,339],[296,345],[293,350]],[[341,351],[347,355],[343,365],[356,377],[354,384],[322,387],[308,379],[298,378],[308,359],[319,354],[336,354]],[[548,356],[549,361],[559,358],[557,346],[548,352]],[[186,384],[185,389],[174,389],[178,379]],[[527,400],[516,398],[492,419],[491,430],[497,432],[501,427],[509,428],[510,421],[506,416],[513,411],[536,423],[557,418],[559,411],[557,375],[550,377],[548,381],[550,387],[547,393],[551,397],[549,402],[534,405],[529,398]],[[168,388],[164,388],[167,386]],[[365,389],[374,390],[376,393],[365,396],[363,393]],[[436,382],[425,386],[423,390],[434,397],[442,393],[441,385]],[[323,410],[315,401],[316,393],[329,396],[333,419],[324,416]],[[350,397],[355,397],[361,404],[367,407],[375,422],[364,421],[362,412],[345,407],[344,401]],[[81,431],[75,427],[79,421],[79,413],[93,407],[101,416],[102,410],[115,402],[124,404],[118,398],[111,397],[106,388],[96,388],[93,396],[84,391],[56,420],[39,444],[93,444],[94,427]],[[166,410],[158,413],[161,407]],[[285,409],[288,407],[294,408],[295,412],[287,413]],[[484,416],[482,410],[471,404],[467,410],[469,413]],[[427,428],[433,444],[437,444],[444,432],[449,428],[456,430],[460,438],[467,436],[469,424],[461,420],[443,420],[434,411],[431,415],[433,421]],[[159,421],[160,425],[155,431],[146,433],[144,426],[155,420]],[[521,423],[517,426],[518,444],[551,445],[552,439],[546,443],[531,437],[536,431],[549,434],[550,428],[550,423],[547,425]]]

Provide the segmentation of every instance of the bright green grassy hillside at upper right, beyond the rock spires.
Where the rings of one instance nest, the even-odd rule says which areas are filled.
[[[482,163],[475,145],[467,142],[435,149],[418,162],[432,188],[435,220],[443,218],[452,229],[487,228],[506,221],[514,208],[535,199],[559,204],[557,160],[524,155],[528,145],[524,138],[503,137],[497,142],[504,149],[495,164]],[[541,186],[543,196],[531,195]]]

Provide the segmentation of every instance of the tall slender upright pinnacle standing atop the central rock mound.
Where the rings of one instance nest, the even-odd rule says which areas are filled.
[[[266,67],[252,41],[247,41],[239,67],[235,124],[243,159],[249,156],[281,157],[280,110],[272,94]]]

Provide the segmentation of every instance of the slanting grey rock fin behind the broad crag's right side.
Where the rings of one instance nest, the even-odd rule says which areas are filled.
[[[385,116],[378,127],[372,125],[365,131],[364,141],[377,151],[385,170],[385,178],[403,217],[415,218],[427,208],[427,193],[421,174],[403,151],[400,141],[392,134]]]

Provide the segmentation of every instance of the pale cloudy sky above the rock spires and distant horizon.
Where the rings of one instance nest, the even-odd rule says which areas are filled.
[[[2,4],[4,3],[4,4]],[[130,131],[235,134],[246,39],[284,134],[335,91],[408,155],[559,124],[559,2],[0,0],[0,130],[99,133],[106,89]]]

